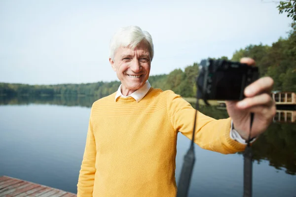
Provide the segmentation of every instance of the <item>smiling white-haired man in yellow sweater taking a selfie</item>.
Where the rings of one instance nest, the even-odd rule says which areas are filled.
[[[191,139],[195,109],[174,92],[150,86],[152,58],[152,38],[139,27],[122,28],[111,39],[109,60],[121,85],[91,108],[78,197],[176,196],[177,134]],[[241,62],[255,65],[249,58]],[[228,119],[198,112],[194,142],[223,154],[243,151],[250,112],[255,113],[251,137],[272,121],[272,84],[261,78],[245,89],[246,99],[227,101]]]

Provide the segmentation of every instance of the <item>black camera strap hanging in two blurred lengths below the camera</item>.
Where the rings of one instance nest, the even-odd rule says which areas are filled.
[[[195,163],[195,154],[194,154],[194,136],[195,136],[195,127],[196,127],[196,119],[197,119],[197,112],[199,110],[199,102],[198,99],[196,99],[196,110],[195,110],[195,117],[194,117],[194,125],[193,125],[193,131],[192,131],[192,140],[190,143],[190,147],[184,157],[184,162],[179,178],[178,183],[178,191],[177,191],[177,197],[187,197],[188,196],[188,190],[190,186],[193,166]],[[254,113],[251,113],[250,117],[250,132],[249,137],[247,140],[247,146],[245,148],[244,152],[244,196],[243,197],[252,197],[252,160],[253,160],[253,153],[252,148],[250,145],[251,139],[251,129],[253,125],[254,120]]]

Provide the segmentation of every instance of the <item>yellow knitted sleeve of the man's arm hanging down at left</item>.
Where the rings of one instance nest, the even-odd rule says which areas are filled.
[[[86,145],[77,184],[77,197],[92,197],[96,172],[96,154],[96,143],[90,117]]]

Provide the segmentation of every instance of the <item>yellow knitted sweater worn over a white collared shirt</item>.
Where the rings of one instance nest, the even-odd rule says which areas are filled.
[[[178,131],[191,139],[195,110],[172,91],[150,88],[140,101],[115,93],[94,102],[77,197],[175,197]],[[198,113],[194,142],[223,154],[242,151],[230,118]]]

